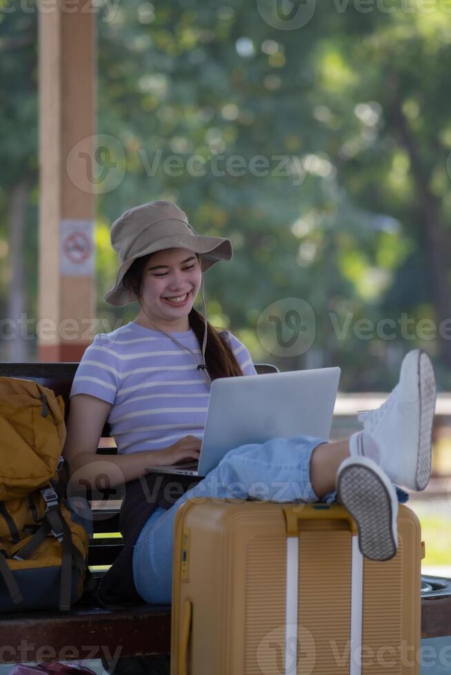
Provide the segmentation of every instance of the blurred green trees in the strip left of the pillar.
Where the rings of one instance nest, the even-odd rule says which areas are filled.
[[[11,11],[13,10],[13,11]],[[37,14],[0,0],[0,304],[5,357],[26,360],[17,321],[35,311],[37,277]]]

